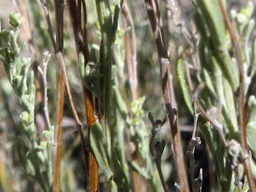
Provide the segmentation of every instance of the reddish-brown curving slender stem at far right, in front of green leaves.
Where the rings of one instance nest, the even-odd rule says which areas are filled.
[[[239,126],[240,126],[240,139],[242,146],[242,159],[243,165],[245,166],[245,172],[248,179],[249,187],[252,192],[256,191],[255,183],[252,175],[251,166],[249,164],[249,148],[246,138],[246,110],[245,110],[245,78],[243,72],[243,56],[242,56],[242,46],[240,42],[240,36],[234,26],[234,23],[230,21],[227,10],[225,9],[224,3],[218,0],[222,14],[224,16],[225,24],[230,34],[232,44],[235,49],[235,55],[237,59],[237,64],[239,68]]]

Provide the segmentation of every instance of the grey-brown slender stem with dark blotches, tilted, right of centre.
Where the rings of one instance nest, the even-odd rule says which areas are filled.
[[[172,133],[175,168],[178,175],[179,188],[182,192],[190,191],[188,187],[188,182],[187,182],[186,168],[184,164],[184,157],[182,152],[180,131],[178,128],[177,114],[176,114],[176,110],[172,108],[172,104],[171,104],[172,95],[170,95],[170,89],[169,89],[170,88],[169,58],[168,58],[168,53],[165,46],[165,41],[163,38],[163,29],[162,29],[162,21],[161,21],[159,6],[157,1],[155,1],[155,7],[156,7],[156,11],[155,11],[153,6],[153,1],[145,0],[145,7],[148,12],[149,21],[151,24],[151,29],[153,31],[154,38],[155,38],[155,44],[156,44],[157,53],[159,56],[163,99],[166,105],[166,110],[167,110],[171,133]]]

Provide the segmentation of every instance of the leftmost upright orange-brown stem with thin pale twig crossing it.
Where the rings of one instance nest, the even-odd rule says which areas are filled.
[[[65,97],[65,85],[69,93],[69,101],[72,112],[74,113],[74,104],[72,103],[72,99],[70,99],[70,88],[66,73],[65,73],[65,65],[63,59],[63,14],[64,14],[64,1],[62,0],[55,0],[54,1],[54,8],[55,8],[55,17],[56,17],[56,42],[54,40],[50,15],[48,14],[48,8],[46,2],[40,0],[42,8],[45,13],[46,22],[48,25],[48,33],[50,34],[52,45],[54,48],[54,52],[57,58],[58,63],[58,81],[57,81],[57,90],[58,90],[58,101],[57,101],[57,126],[56,131],[54,131],[54,141],[53,143],[57,143],[57,152],[56,152],[56,159],[54,164],[54,179],[53,179],[53,190],[59,192],[60,191],[60,160],[61,160],[61,145],[62,145],[62,119],[63,119],[63,107],[64,107],[64,97]],[[65,83],[64,83],[65,82]],[[76,113],[74,113],[76,114]],[[77,121],[77,116],[75,119]],[[78,125],[78,124],[77,124]],[[78,126],[79,127],[79,126]],[[80,132],[80,128],[78,128]],[[82,141],[82,140],[81,140]]]

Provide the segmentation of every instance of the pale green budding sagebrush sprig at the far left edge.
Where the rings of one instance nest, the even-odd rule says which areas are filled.
[[[10,13],[10,24],[14,30],[1,30],[1,61],[7,76],[17,96],[19,96],[22,112],[20,113],[20,135],[15,140],[20,163],[26,173],[40,184],[42,191],[51,188],[51,135],[52,128],[43,131],[44,139],[40,140],[34,122],[35,85],[34,73],[29,70],[31,58],[22,57],[17,38],[20,34],[22,17],[20,14]],[[45,55],[44,60],[48,58]]]

